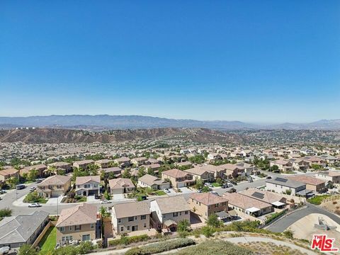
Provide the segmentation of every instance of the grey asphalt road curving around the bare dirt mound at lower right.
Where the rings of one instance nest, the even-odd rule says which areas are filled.
[[[336,216],[327,210],[319,208],[316,205],[307,203],[307,208],[302,209],[302,210],[297,210],[296,212],[293,212],[290,215],[282,217],[280,220],[277,220],[273,224],[269,225],[266,229],[271,230],[273,232],[283,232],[294,222],[302,219],[302,217],[310,215],[311,213],[319,213],[319,214],[327,215],[328,217],[331,218],[331,220],[334,220],[336,223],[340,224],[339,216]]]

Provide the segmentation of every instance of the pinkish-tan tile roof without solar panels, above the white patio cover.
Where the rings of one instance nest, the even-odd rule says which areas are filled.
[[[255,198],[250,198],[249,196],[242,195],[242,193],[224,193],[223,196],[227,198],[229,205],[237,206],[238,208],[248,209],[248,208],[268,208],[272,205],[270,203],[257,200]]]

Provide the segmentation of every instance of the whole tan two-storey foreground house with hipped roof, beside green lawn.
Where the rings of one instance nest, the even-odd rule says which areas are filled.
[[[55,225],[57,227],[57,244],[68,244],[73,240],[97,239],[96,224],[96,205],[80,203],[72,208],[63,209]]]

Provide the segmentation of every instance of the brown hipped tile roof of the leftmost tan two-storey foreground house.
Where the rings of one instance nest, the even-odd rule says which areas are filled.
[[[72,208],[63,209],[56,227],[67,227],[96,223],[97,207],[89,203],[81,203]]]

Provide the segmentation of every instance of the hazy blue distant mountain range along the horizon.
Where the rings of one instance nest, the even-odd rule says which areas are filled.
[[[72,128],[85,130],[116,130],[140,128],[210,128],[217,130],[288,129],[340,130],[340,119],[318,120],[313,123],[283,123],[256,125],[227,120],[176,120],[140,115],[49,115],[29,117],[0,117],[0,128]]]

